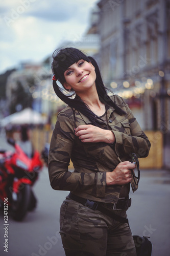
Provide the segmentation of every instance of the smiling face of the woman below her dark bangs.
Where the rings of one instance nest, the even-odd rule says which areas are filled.
[[[72,64],[65,72],[65,89],[73,89],[77,94],[95,86],[96,74],[93,65],[83,59]]]

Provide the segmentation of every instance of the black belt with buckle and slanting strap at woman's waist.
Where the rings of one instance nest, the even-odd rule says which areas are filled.
[[[116,215],[113,211],[103,207],[98,202],[94,202],[94,201],[91,201],[91,200],[88,200],[88,199],[85,199],[85,198],[82,198],[82,197],[78,197],[78,196],[76,196],[72,193],[69,193],[68,197],[70,199],[78,202],[78,203],[83,204],[84,206],[87,206],[90,209],[99,210],[99,211],[103,212],[103,214],[106,214],[107,216],[113,218],[114,220],[117,220],[117,221],[120,221],[120,222],[123,222],[123,223],[128,223],[128,219],[123,218],[119,215]],[[128,200],[118,199],[116,204],[109,204],[109,205],[112,205],[112,209],[114,209],[114,210],[117,210],[117,209],[118,210],[120,210],[120,209],[125,210],[125,209],[128,209],[131,206],[131,198],[128,199]]]

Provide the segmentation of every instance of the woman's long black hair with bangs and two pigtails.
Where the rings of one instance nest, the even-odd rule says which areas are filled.
[[[53,62],[52,62],[52,71],[55,76],[55,78],[63,84],[65,82],[64,72],[67,70],[68,67],[70,67],[72,64],[78,62],[80,59],[83,59],[87,62],[91,62],[92,65],[95,68],[96,73],[96,80],[95,80],[95,86],[96,90],[99,95],[99,99],[104,104],[107,104],[109,106],[112,106],[117,114],[123,115],[126,114],[122,109],[120,109],[108,96],[106,92],[106,88],[103,84],[101,73],[98,67],[98,64],[92,57],[87,57],[82,51],[76,49],[76,48],[64,48],[56,50],[53,53]],[[88,119],[91,121],[91,124],[95,126],[100,126],[100,118],[97,117],[89,108],[88,106],[81,100],[81,98],[76,95],[74,99],[71,99],[70,95],[65,95],[62,91],[57,82],[53,80],[53,88],[57,96],[64,101],[66,104],[70,106],[72,109],[76,109],[82,114],[84,114]],[[66,89],[64,89],[66,92]],[[72,96],[72,95],[71,95]]]

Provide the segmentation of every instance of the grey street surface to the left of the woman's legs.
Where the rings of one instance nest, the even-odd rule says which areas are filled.
[[[44,167],[40,174],[40,178],[33,190],[38,199],[38,206],[35,211],[28,212],[28,215],[22,222],[14,221],[9,213],[8,253],[4,252],[5,248],[3,248],[5,230],[4,216],[3,212],[1,212],[1,255],[64,256],[59,236],[59,208],[68,193],[67,191],[55,191],[51,188],[46,167]],[[53,239],[52,242],[51,239]]]

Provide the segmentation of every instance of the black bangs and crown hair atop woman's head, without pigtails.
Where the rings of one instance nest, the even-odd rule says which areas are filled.
[[[53,74],[61,83],[65,82],[64,72],[80,59],[90,62],[90,59],[76,48],[64,48],[56,50],[53,53]]]

